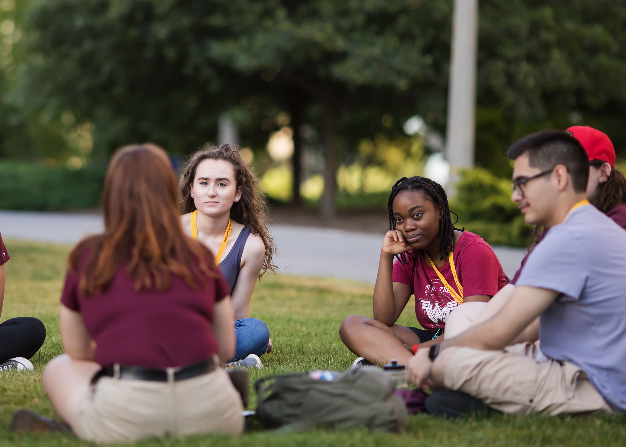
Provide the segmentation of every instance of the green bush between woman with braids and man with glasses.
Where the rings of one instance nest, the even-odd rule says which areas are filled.
[[[510,180],[488,170],[462,172],[450,208],[459,215],[457,227],[465,227],[492,245],[528,247],[532,242],[532,227],[511,202]]]

